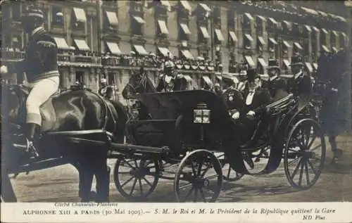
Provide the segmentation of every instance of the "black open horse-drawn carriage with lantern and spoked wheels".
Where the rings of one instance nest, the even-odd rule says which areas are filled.
[[[120,145],[111,148],[118,151],[115,185],[129,200],[149,196],[162,178],[174,180],[177,201],[192,197],[194,201],[212,202],[220,194],[222,179],[269,174],[277,170],[282,158],[289,184],[296,189],[309,189],[322,172],[326,148],[315,108],[310,103],[301,106],[292,94],[266,107],[248,140],[241,139],[241,125],[231,119],[225,103],[213,92],[140,94],[139,101],[149,118],[127,122],[134,149],[121,151]],[[254,165],[252,159],[268,161],[253,172],[248,167]],[[223,170],[225,165],[230,165],[228,171]],[[132,187],[127,188],[129,183]],[[140,191],[134,193],[136,185]]]

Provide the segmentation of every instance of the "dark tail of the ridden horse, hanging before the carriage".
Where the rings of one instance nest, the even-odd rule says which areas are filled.
[[[120,101],[110,101],[118,114],[117,126],[115,129],[114,137],[117,143],[123,143],[125,137],[125,126],[127,122],[127,110]]]

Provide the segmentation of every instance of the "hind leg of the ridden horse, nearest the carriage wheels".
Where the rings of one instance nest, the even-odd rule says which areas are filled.
[[[106,154],[95,160],[94,170],[96,177],[96,202],[109,201],[110,167],[107,165]]]

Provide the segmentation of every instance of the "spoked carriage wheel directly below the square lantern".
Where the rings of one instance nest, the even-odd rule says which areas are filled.
[[[177,169],[174,191],[178,202],[215,202],[222,186],[221,164],[213,153],[192,151]]]

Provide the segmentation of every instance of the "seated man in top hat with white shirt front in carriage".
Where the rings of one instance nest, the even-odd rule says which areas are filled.
[[[249,141],[258,124],[258,115],[263,114],[265,106],[272,103],[272,98],[268,89],[261,87],[261,79],[256,74],[256,70],[247,71],[247,84],[244,89],[243,110],[232,112],[234,120],[240,120],[244,131],[242,138]]]

